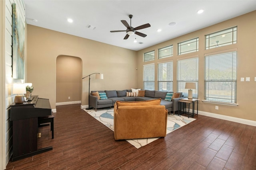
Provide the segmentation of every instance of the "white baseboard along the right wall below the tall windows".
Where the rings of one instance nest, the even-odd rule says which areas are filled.
[[[191,110],[191,112],[192,112],[192,110]],[[219,115],[219,114],[216,114],[216,113],[209,113],[209,112],[205,112],[205,111],[198,111],[198,115],[204,115],[204,116],[208,116],[208,117],[214,117],[214,118],[218,118],[218,119],[234,121],[234,122],[237,122],[237,123],[242,123],[242,124],[246,124],[246,125],[256,126],[256,121],[247,120],[247,119],[241,119],[241,118],[231,117],[231,116],[226,116],[226,115]]]

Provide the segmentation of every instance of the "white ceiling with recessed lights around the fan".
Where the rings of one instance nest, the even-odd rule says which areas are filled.
[[[256,0],[24,0],[26,22],[63,33],[138,51],[175,37],[256,10]],[[197,11],[203,9],[202,14]],[[120,20],[132,27],[150,23],[138,30],[146,37],[131,35]],[[67,21],[72,18],[73,23]],[[37,22],[34,22],[37,20]],[[170,22],[176,25],[169,26]],[[88,25],[96,29],[87,28]],[[157,32],[157,29],[162,29]],[[138,40],[143,44],[134,43]]]

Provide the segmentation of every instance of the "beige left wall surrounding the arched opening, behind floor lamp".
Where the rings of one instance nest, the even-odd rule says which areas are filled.
[[[42,27],[27,25],[27,82],[34,95],[50,99],[56,107],[56,58],[59,55],[82,59],[82,77],[94,72],[104,80],[91,77],[90,90],[124,90],[137,87],[136,51],[84,39]],[[82,106],[88,105],[88,78],[82,80]]]

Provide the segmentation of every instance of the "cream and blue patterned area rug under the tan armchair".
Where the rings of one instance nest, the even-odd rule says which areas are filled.
[[[95,110],[86,110],[84,109],[89,115],[94,117],[96,120],[100,121],[103,125],[114,131],[114,109],[97,109],[97,112]],[[194,121],[196,119],[190,117],[185,117],[182,115],[168,115],[167,120],[167,131],[166,134]],[[113,134],[114,137],[114,134]],[[137,149],[147,145],[148,143],[151,143],[159,138],[147,138],[147,139],[128,139],[130,144],[132,144]]]

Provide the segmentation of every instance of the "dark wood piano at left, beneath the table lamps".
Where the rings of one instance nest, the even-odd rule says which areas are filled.
[[[31,101],[10,105],[12,121],[12,161],[20,160],[52,150],[52,147],[38,149],[38,117],[52,114],[49,99],[31,96]]]

